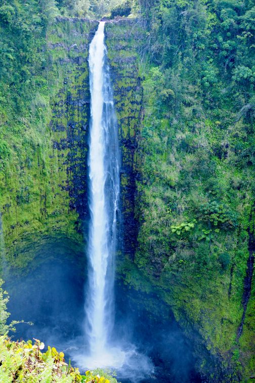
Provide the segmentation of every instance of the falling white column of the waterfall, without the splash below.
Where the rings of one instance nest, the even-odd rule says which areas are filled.
[[[119,200],[119,147],[113,94],[100,22],[89,51],[91,125],[89,144],[89,284],[85,305],[90,355],[107,349],[114,322],[114,255]]]

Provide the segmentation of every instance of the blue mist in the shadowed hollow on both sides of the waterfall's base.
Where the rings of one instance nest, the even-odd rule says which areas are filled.
[[[13,339],[40,339],[46,347],[63,351],[66,360],[71,357],[81,371],[84,366],[76,356],[86,353],[88,343],[83,335],[84,270],[82,248],[67,239],[47,239],[29,267],[19,275],[10,272],[5,283],[11,320],[33,322],[18,324]],[[158,296],[138,292],[118,279],[115,297],[111,347],[125,353],[122,367],[115,369],[119,381],[201,381],[195,373],[192,344]]]

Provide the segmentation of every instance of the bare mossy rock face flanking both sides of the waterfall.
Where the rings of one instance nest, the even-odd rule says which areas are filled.
[[[105,27],[122,154],[121,233],[124,252],[131,258],[138,229],[134,217],[136,148],[143,92],[137,53],[143,32],[134,25],[120,20]],[[39,110],[40,116],[37,125],[27,129],[32,136],[29,146],[21,142],[14,149],[17,158],[0,174],[6,255],[14,268],[25,267],[34,256],[31,245],[44,238],[64,236],[78,243],[86,238],[88,54],[97,26],[97,21],[58,17],[47,29],[45,85],[44,89],[38,86],[32,111]]]

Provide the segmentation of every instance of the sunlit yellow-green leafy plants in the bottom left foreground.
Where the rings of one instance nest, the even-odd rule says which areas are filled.
[[[38,339],[12,341],[6,335],[0,337],[0,381],[12,382],[81,382],[81,383],[117,383],[111,376],[95,375],[86,371],[81,375],[78,368],[67,364],[64,353],[58,353],[50,346],[43,353],[44,343]],[[103,371],[102,371],[103,372]]]

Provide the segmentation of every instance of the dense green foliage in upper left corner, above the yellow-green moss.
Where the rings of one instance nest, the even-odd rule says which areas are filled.
[[[31,147],[38,143],[31,125],[38,125],[45,105],[44,99],[36,98],[37,90],[46,86],[44,40],[39,38],[45,34],[45,12],[40,14],[33,1],[25,6],[16,1],[0,2],[0,171],[17,159],[22,144],[29,156]]]

